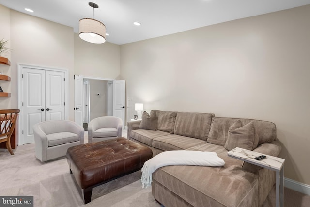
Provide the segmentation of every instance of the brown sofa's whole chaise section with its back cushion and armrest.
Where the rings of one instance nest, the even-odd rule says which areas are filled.
[[[278,156],[276,126],[253,119],[213,117],[207,143],[187,148],[217,152],[223,167],[166,166],[153,173],[152,193],[164,206],[259,207],[275,183],[275,172],[227,156],[225,143],[234,122],[250,122],[255,127],[259,145],[253,150]]]

